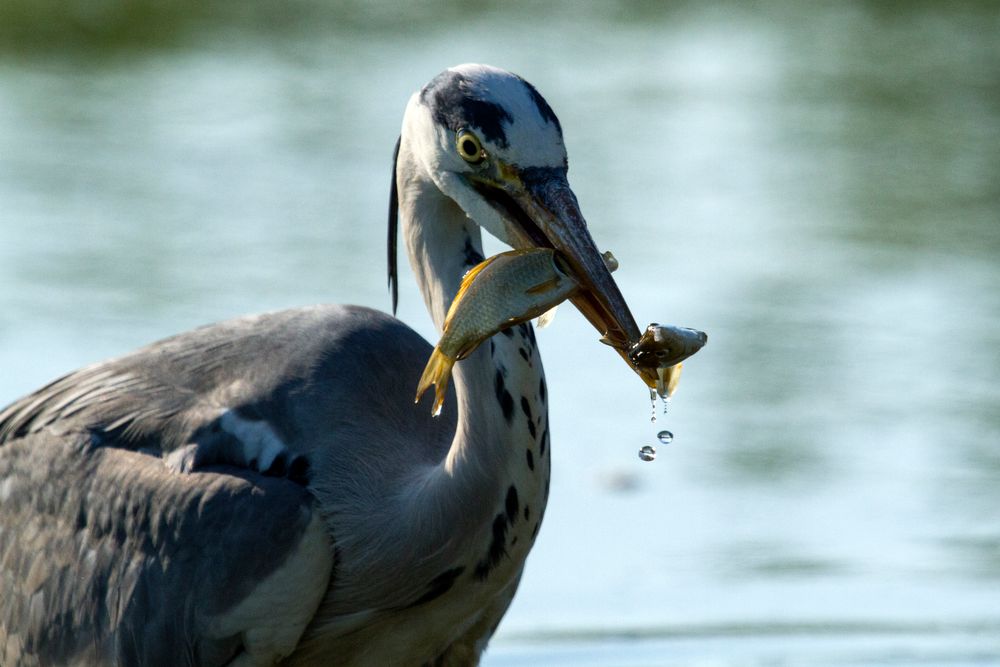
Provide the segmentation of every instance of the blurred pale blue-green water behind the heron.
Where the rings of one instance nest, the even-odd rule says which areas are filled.
[[[470,61],[556,110],[637,319],[710,336],[654,427],[579,314],[539,334],[550,508],[485,665],[1000,664],[995,2],[3,0],[0,403],[388,308],[402,111]]]

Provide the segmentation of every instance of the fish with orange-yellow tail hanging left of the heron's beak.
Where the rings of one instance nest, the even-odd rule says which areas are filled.
[[[440,414],[456,361],[502,329],[565,301],[578,288],[569,267],[550,248],[502,252],[469,269],[448,308],[441,340],[420,376],[415,402],[434,385],[432,412]]]

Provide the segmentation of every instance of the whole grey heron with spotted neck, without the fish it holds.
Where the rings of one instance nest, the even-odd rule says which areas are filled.
[[[410,98],[397,221],[438,329],[480,228],[558,249],[607,341],[635,322],[525,80],[442,72]],[[70,373],[0,412],[0,663],[475,665],[549,491],[528,324],[413,404],[431,346],[387,314],[241,318]]]

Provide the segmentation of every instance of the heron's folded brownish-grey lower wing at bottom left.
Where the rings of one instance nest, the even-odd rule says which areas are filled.
[[[333,566],[301,486],[40,431],[0,446],[0,664],[273,664]]]

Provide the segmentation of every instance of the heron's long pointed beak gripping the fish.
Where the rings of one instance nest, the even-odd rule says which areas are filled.
[[[627,355],[641,333],[590,236],[565,169],[528,168],[505,175],[502,189],[483,184],[477,190],[506,212],[512,245],[558,250],[581,286],[571,297],[573,305],[647,384],[655,383],[655,376],[646,378]]]

